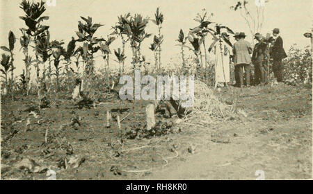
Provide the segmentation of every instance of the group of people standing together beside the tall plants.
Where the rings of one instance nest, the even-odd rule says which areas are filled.
[[[224,39],[229,40],[229,35],[222,34]],[[218,83],[227,85],[230,82],[230,64],[234,63],[235,87],[248,87],[253,85],[268,84],[269,62],[272,64],[274,77],[282,82],[282,59],[287,57],[283,48],[280,30],[274,28],[273,37],[268,33],[266,37],[260,33],[255,34],[257,44],[252,48],[245,40],[245,33],[236,33],[236,42],[231,47],[223,42],[223,46],[216,46],[216,87]],[[222,45],[222,41],[221,44]],[[231,53],[232,50],[232,53]],[[220,55],[221,53],[221,55]],[[251,82],[251,67],[254,66],[255,73],[253,83]]]

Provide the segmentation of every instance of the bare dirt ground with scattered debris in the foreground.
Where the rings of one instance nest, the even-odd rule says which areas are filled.
[[[228,87],[216,96],[236,98],[241,119],[200,126],[159,115],[161,136],[148,138],[140,134],[147,101],[79,109],[67,96],[54,96],[37,118],[26,110],[35,96],[1,99],[1,179],[47,179],[48,168],[56,179],[257,179],[256,170],[265,179],[312,178],[311,88]]]

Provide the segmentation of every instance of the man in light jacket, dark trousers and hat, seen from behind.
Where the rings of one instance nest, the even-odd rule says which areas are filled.
[[[245,33],[236,33],[234,35],[238,41],[234,44],[232,51],[234,53],[234,71],[236,87],[243,86],[243,68],[245,69],[246,85],[250,85],[250,63],[252,53],[251,44],[245,40]]]

